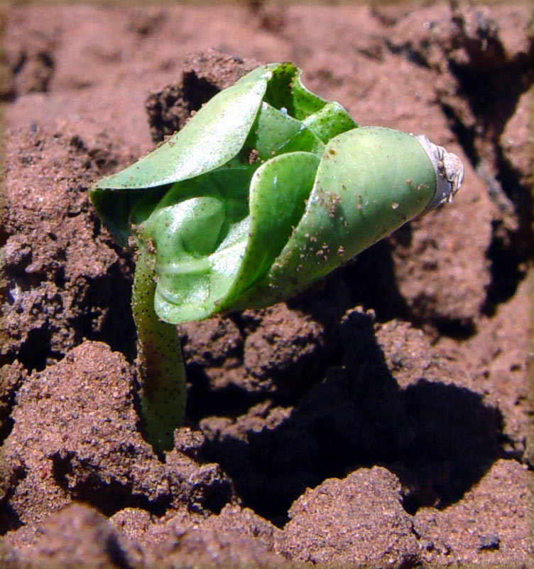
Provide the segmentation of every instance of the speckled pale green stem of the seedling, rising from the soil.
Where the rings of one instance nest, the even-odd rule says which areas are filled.
[[[185,367],[175,326],[154,310],[153,258],[141,251],[136,262],[131,307],[137,329],[146,439],[157,454],[171,450],[174,430],[185,418]]]

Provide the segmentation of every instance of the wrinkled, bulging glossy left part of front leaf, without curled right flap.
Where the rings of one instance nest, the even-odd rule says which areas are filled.
[[[239,268],[254,166],[217,169],[174,184],[137,227],[156,251],[156,312],[165,321],[213,312]]]

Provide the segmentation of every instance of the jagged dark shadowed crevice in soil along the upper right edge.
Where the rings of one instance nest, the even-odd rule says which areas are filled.
[[[503,199],[509,201],[518,220],[518,226],[513,230],[494,222],[494,237],[487,252],[491,262],[491,283],[483,307],[483,312],[491,315],[498,304],[515,294],[525,276],[523,265],[532,255],[533,196],[530,188],[521,184],[519,172],[506,159],[500,138],[506,123],[516,112],[519,98],[534,81],[531,64],[534,42],[530,43],[530,53],[518,53],[510,60],[506,59],[500,41],[490,38],[489,43],[485,55],[484,50],[477,51],[480,46],[467,43],[472,61],[468,65],[450,65],[459,80],[460,95],[476,117],[476,124],[466,126],[457,111],[448,105],[443,104],[442,109],[469,161],[488,185],[490,196],[494,194],[497,203]],[[476,147],[476,139],[481,133],[486,141],[484,153],[491,156],[495,174],[489,174],[493,169],[488,167],[488,156],[481,156],[481,149]]]

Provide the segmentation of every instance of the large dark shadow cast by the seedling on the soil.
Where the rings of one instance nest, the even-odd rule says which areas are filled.
[[[205,452],[231,475],[246,506],[281,526],[307,487],[382,464],[400,477],[413,514],[457,501],[503,455],[499,411],[456,385],[420,378],[401,388],[370,316],[350,312],[342,344],[342,364],[276,427],[207,440]]]

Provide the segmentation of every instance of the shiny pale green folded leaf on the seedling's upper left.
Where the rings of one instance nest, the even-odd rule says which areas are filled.
[[[92,203],[118,243],[126,245],[131,208],[148,191],[161,196],[161,186],[217,169],[239,153],[278,66],[263,65],[217,93],[165,144],[94,185]]]

